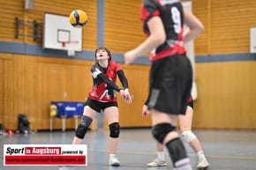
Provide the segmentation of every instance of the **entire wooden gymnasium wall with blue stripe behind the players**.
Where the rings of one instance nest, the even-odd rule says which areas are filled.
[[[78,0],[36,0],[32,11],[25,11],[23,1],[1,1],[0,123],[16,129],[17,115],[26,113],[32,129],[49,129],[51,100],[84,101],[92,85],[89,69],[94,48],[105,44],[114,59],[123,63],[122,53],[145,39],[139,3],[132,0],[85,1],[83,4]],[[206,27],[206,32],[194,42],[199,93],[195,101],[194,128],[256,129],[256,91],[253,88],[256,86],[256,56],[249,54],[249,30],[256,27],[255,5],[253,0],[192,1],[194,13]],[[89,17],[83,28],[84,51],[79,57],[71,58],[57,50],[46,52],[41,49],[41,40],[34,41],[32,37],[15,39],[15,17],[42,23],[44,12],[67,16],[78,6],[87,11]],[[97,10],[99,6],[104,13]],[[32,33],[26,26],[21,26],[19,31]],[[30,49],[36,50],[30,53]],[[140,115],[147,96],[147,57],[132,66],[122,66],[133,103],[126,105],[119,100],[120,123],[123,127],[149,127],[150,118]],[[54,120],[54,128],[61,128],[60,120]],[[72,119],[67,120],[67,128],[74,128]]]

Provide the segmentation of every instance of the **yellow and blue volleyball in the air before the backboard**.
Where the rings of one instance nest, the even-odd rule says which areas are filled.
[[[70,14],[70,23],[72,26],[76,28],[80,28],[82,26],[85,26],[87,24],[87,13],[82,10],[74,10]]]

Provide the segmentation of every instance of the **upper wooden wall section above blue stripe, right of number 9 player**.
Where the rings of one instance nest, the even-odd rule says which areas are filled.
[[[195,41],[196,54],[249,52],[255,9],[253,0],[193,0],[192,10],[206,27]]]

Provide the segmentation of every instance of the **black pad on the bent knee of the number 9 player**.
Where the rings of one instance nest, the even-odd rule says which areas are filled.
[[[153,137],[160,143],[163,143],[164,138],[169,134],[169,132],[173,131],[175,129],[174,126],[172,126],[168,122],[163,122],[160,124],[156,124],[152,129]]]

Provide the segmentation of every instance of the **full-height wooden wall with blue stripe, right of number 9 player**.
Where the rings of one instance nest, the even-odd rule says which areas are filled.
[[[256,55],[249,54],[255,2],[194,0],[192,7],[206,28],[195,41],[199,99],[193,126],[255,129]]]

